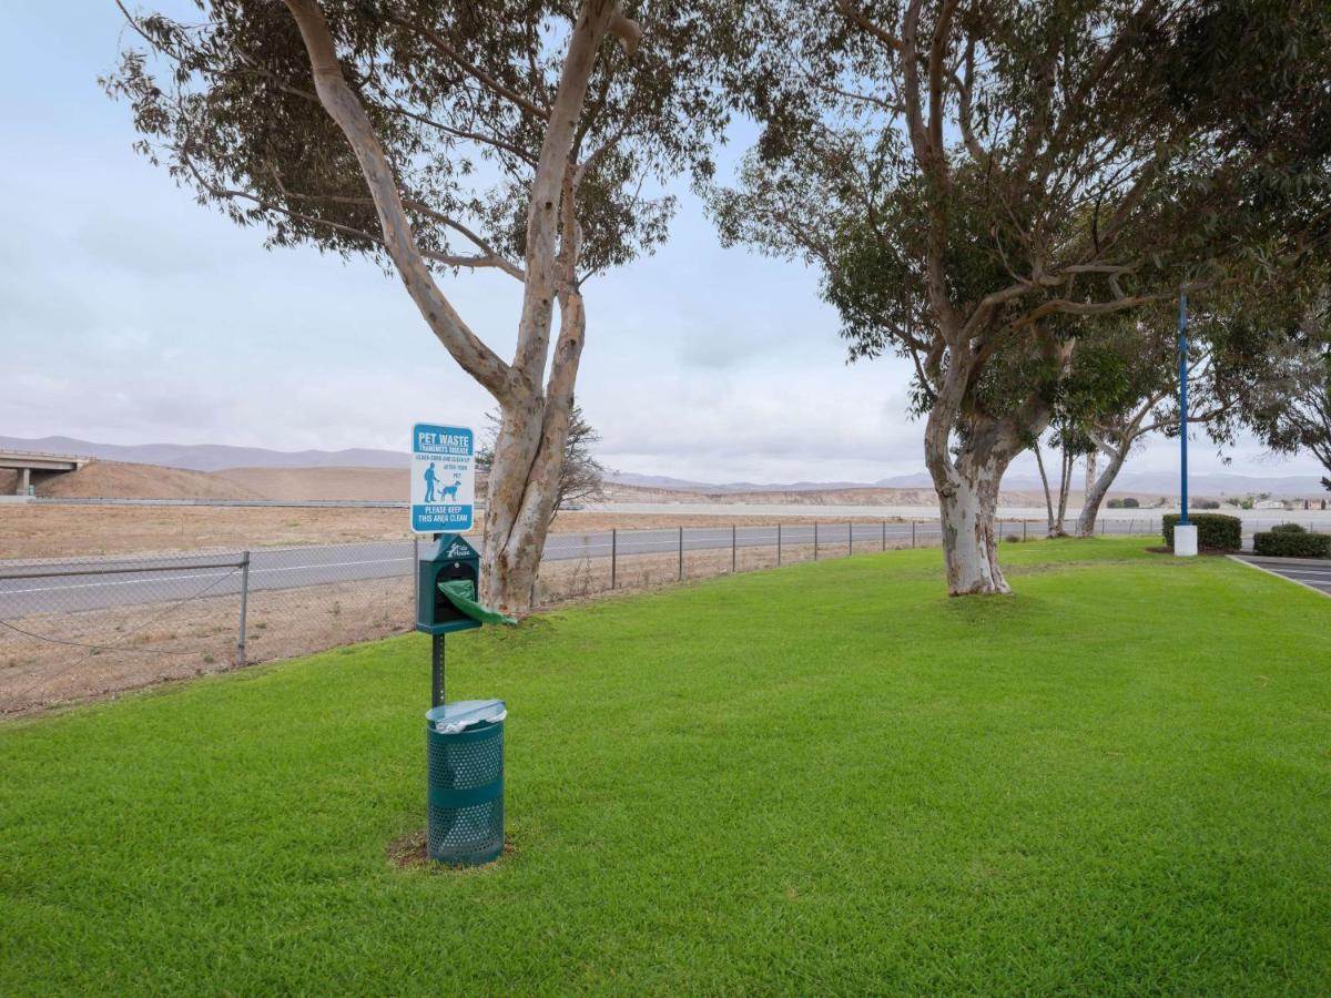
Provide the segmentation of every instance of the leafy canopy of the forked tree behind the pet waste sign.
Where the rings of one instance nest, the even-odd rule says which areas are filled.
[[[313,244],[387,263],[351,146],[325,113],[284,5],[210,0],[198,23],[152,13],[106,89],[128,100],[138,148],[269,245]],[[715,39],[684,0],[644,4],[630,41],[591,71],[571,160],[579,278],[650,251],[679,170],[707,177],[725,121],[704,72]],[[333,0],[321,4],[342,72],[394,166],[431,266],[522,277],[527,198],[562,73],[567,3]],[[650,44],[639,44],[647,32]],[[133,40],[132,40],[133,41]],[[628,49],[632,48],[630,56]]]

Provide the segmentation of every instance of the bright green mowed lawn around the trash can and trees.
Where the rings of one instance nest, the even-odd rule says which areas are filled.
[[[0,993],[1331,990],[1331,600],[1143,542],[937,551],[450,639],[495,866],[423,826],[427,641],[0,729]]]

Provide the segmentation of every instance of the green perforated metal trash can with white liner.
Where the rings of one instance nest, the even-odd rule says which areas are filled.
[[[462,866],[503,852],[503,700],[426,712],[430,858]]]

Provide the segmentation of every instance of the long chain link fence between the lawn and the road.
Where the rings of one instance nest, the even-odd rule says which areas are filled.
[[[1161,520],[1105,518],[1098,530],[1158,535]],[[1004,544],[1036,540],[1045,522],[1005,520],[998,531]],[[550,607],[941,540],[937,520],[554,534],[534,601]],[[417,542],[407,539],[0,562],[0,713],[403,633],[414,623],[415,559]]]

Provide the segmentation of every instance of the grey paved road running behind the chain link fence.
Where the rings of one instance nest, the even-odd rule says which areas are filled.
[[[1146,522],[1106,520],[1106,532],[1141,532]],[[1030,536],[1040,524],[1029,524]],[[937,520],[912,523],[860,523],[855,526],[855,551],[937,543],[941,534]],[[1004,524],[1002,536],[1022,534],[1021,524]],[[816,544],[827,556],[851,550],[849,527],[844,523],[793,524],[777,527],[737,527],[739,548],[773,548]],[[474,538],[479,546],[479,539]],[[594,531],[554,534],[546,543],[544,558],[560,562],[583,558],[608,558],[612,547],[620,558],[679,551],[680,532],[667,530]],[[684,530],[685,552],[716,551],[731,546],[729,527],[688,527]],[[225,596],[240,592],[241,574],[237,554],[192,555],[180,558],[125,559],[104,558],[84,562],[4,563],[0,562],[0,619],[29,613],[100,609],[136,603],[157,603],[190,596]],[[411,574],[410,540],[377,540],[355,544],[260,548],[250,555],[252,589],[289,589],[366,579],[397,579]],[[154,571],[149,571],[154,570]]]

